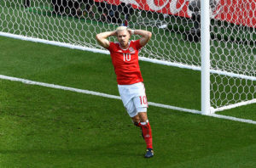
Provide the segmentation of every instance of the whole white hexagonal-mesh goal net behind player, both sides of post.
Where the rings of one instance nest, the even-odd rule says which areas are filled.
[[[256,102],[256,3],[210,0],[214,111]],[[108,53],[96,33],[152,31],[140,59],[201,70],[200,0],[2,0],[0,35]],[[172,105],[172,104],[171,104]]]

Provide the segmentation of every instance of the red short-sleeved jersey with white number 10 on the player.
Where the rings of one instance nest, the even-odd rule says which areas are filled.
[[[119,85],[131,85],[143,81],[138,64],[140,48],[142,46],[139,40],[131,41],[127,49],[120,48],[119,42],[110,42],[108,50]]]

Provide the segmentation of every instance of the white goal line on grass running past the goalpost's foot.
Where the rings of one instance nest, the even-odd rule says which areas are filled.
[[[100,97],[104,97],[104,98],[114,98],[114,99],[119,99],[119,100],[121,99],[119,96],[114,96],[114,95],[106,94],[106,93],[102,93],[102,92],[94,92],[94,91],[89,91],[89,90],[84,90],[84,89],[73,88],[73,87],[63,87],[63,86],[60,86],[60,85],[49,84],[49,83],[44,83],[44,82],[39,82],[39,81],[30,81],[30,80],[26,80],[26,79],[11,77],[11,76],[0,75],[0,79],[8,80],[8,81],[20,81],[20,82],[28,84],[28,85],[37,85],[37,86],[41,86],[41,87],[50,87],[50,88],[56,88],[56,89],[71,91],[71,92],[80,92],[80,93],[100,96]],[[166,105],[166,104],[156,104],[154,102],[148,102],[148,105],[152,105],[152,106],[160,107],[160,108],[165,108],[165,109],[175,109],[175,110],[178,110],[178,111],[184,111],[184,112],[189,112],[189,113],[193,113],[193,114],[201,114],[201,111],[199,111],[199,110],[183,109],[183,108],[179,108],[179,107],[175,107],[175,106],[171,106],[171,105]],[[224,115],[215,115],[215,114],[207,115],[207,116],[212,116],[212,117],[226,119],[226,120],[236,120],[236,121],[239,121],[239,122],[246,122],[246,123],[256,125],[256,121],[254,121],[254,120],[245,120],[245,119],[239,119],[239,118],[236,118],[236,117],[230,117],[230,116],[224,116]]]

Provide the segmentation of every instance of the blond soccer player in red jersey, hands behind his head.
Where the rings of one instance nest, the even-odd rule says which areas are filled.
[[[140,35],[140,39],[130,41],[131,35]],[[116,36],[118,42],[109,42],[108,36]],[[138,64],[139,50],[145,46],[152,33],[143,30],[130,30],[125,26],[115,31],[106,31],[96,35],[96,40],[103,48],[107,48],[117,76],[119,94],[125,109],[135,126],[142,129],[147,144],[146,158],[154,156],[152,133],[148,122],[148,102],[143,85],[143,76]]]

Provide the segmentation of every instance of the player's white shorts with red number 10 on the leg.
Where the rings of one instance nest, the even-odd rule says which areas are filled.
[[[138,112],[147,112],[148,101],[143,82],[131,85],[118,85],[119,94],[130,117]]]

